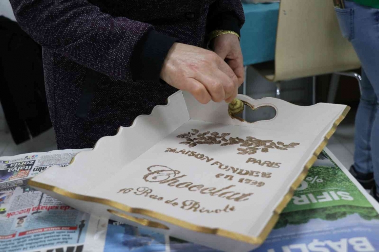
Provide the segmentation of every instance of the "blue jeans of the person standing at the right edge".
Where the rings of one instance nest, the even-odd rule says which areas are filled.
[[[345,1],[335,8],[342,34],[362,63],[362,95],[355,117],[354,167],[374,173],[379,192],[379,9]]]

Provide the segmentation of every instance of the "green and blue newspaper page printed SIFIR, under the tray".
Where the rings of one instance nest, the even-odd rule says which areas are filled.
[[[259,252],[379,251],[379,204],[325,149]],[[110,221],[104,252],[216,252]]]

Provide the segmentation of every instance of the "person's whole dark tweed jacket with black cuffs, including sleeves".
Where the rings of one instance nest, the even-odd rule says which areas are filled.
[[[201,47],[207,32],[239,30],[240,0],[10,0],[18,24],[43,47],[59,149],[92,148],[119,126],[165,104],[159,80],[175,41]]]

